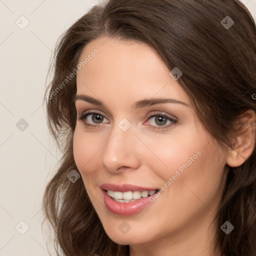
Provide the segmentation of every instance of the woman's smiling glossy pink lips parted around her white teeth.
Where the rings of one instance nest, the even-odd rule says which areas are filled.
[[[105,206],[109,211],[118,215],[132,215],[140,212],[146,205],[152,203],[150,197],[153,197],[153,193],[158,191],[158,188],[155,187],[142,187],[131,184],[105,183],[100,187],[102,189]],[[145,191],[150,191],[149,196],[145,195]],[[114,198],[116,197],[115,195],[140,194],[140,192],[144,194],[144,196],[138,196],[138,199],[132,199],[131,197],[127,200]]]

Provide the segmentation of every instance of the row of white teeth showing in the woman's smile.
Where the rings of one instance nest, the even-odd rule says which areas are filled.
[[[126,192],[107,190],[107,194],[110,197],[114,198],[115,201],[118,201],[118,202],[130,202],[135,199],[139,199],[141,196],[147,197],[148,195],[153,195],[155,192],[156,192],[156,190],[126,191]]]

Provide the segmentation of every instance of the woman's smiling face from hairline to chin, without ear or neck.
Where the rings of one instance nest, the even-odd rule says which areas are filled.
[[[82,61],[73,154],[108,236],[120,244],[200,237],[220,202],[227,152],[145,44],[99,38]]]

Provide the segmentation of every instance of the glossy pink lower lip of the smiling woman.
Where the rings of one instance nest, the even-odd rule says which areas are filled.
[[[150,195],[148,197],[140,197],[132,202],[117,202],[114,201],[105,190],[103,190],[103,197],[106,207],[114,214],[118,215],[132,215],[140,212],[146,205],[151,203],[150,197],[154,195]]]

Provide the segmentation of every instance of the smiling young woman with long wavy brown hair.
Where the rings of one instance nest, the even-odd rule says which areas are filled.
[[[256,27],[238,0],[109,0],[59,40],[64,255],[256,255]]]

